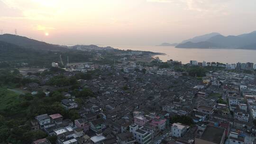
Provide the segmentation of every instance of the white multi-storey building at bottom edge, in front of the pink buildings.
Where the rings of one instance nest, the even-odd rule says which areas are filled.
[[[133,134],[133,137],[138,144],[151,144],[152,134],[146,130],[143,130],[143,126],[133,124],[129,126],[129,128],[130,133]]]

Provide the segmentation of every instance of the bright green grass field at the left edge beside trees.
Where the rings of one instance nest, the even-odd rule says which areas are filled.
[[[0,110],[4,108],[11,108],[11,106],[19,103],[19,94],[7,90],[5,87],[0,87]]]

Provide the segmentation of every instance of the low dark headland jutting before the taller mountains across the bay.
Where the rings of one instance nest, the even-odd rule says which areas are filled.
[[[176,47],[177,48],[216,48],[218,47],[218,45],[213,44],[211,42],[198,42],[198,43],[186,42],[183,44],[179,44]]]

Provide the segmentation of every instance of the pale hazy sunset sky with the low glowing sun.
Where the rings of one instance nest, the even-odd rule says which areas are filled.
[[[59,45],[158,45],[256,30],[255,0],[0,0],[3,33]]]

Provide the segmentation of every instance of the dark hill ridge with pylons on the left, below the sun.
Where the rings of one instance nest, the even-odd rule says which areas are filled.
[[[64,48],[64,46],[47,44],[45,42],[40,42],[34,39],[27,38],[25,36],[17,36],[11,34],[0,35],[0,41],[18,45],[23,48],[38,50],[59,50],[61,48]]]

